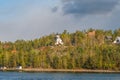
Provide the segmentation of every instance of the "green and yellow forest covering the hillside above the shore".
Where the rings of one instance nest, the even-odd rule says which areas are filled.
[[[90,37],[87,33],[91,31],[64,30],[61,46],[55,46],[55,33],[29,41],[0,42],[0,67],[120,70],[120,45],[112,43],[120,29],[96,30]]]

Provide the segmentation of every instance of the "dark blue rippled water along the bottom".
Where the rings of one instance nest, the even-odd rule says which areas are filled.
[[[120,73],[0,72],[0,80],[120,80]]]

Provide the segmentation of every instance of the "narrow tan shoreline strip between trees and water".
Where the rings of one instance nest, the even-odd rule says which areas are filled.
[[[20,71],[20,72],[76,72],[76,73],[120,73],[115,70],[92,70],[92,69],[37,69],[37,68],[23,68],[23,69],[0,69],[0,71]]]

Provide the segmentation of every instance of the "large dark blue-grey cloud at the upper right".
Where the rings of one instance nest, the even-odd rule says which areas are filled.
[[[64,14],[86,15],[111,12],[119,0],[61,0]]]

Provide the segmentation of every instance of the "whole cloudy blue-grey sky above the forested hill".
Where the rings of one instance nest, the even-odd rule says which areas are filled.
[[[0,41],[120,28],[120,0],[0,0]]]

